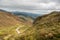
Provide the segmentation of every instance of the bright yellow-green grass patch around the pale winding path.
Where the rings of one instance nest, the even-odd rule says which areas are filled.
[[[16,25],[16,26],[5,27],[3,29],[0,29],[0,36],[2,36],[2,39],[4,39],[4,40],[8,40],[8,39],[12,40],[12,39],[15,39],[15,37],[18,37],[18,36],[23,35],[25,33],[24,31],[27,30],[27,29],[29,29],[29,27],[27,25],[24,25],[24,26],[20,27],[20,30],[19,31],[22,34],[19,34],[18,35],[18,33],[16,32],[16,28],[17,27],[19,27],[19,26]]]

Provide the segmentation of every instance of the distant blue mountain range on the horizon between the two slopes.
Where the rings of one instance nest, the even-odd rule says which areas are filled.
[[[20,16],[23,15],[25,17],[31,17],[32,19],[35,19],[38,16],[41,16],[42,14],[34,14],[34,13],[28,13],[28,12],[12,12],[14,15]]]

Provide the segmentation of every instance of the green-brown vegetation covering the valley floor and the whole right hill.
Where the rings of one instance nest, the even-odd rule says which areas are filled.
[[[0,28],[0,39],[60,40],[60,12],[40,16],[36,18],[32,25],[23,23],[11,27],[2,27]]]

